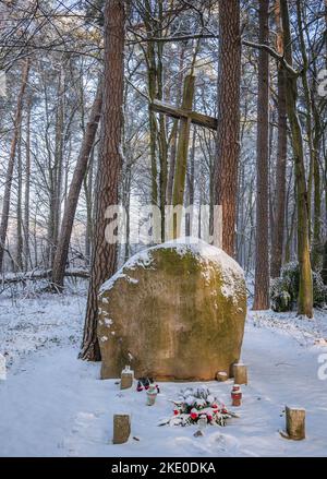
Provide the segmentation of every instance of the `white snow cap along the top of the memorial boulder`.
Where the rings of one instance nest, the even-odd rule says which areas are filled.
[[[209,264],[216,263],[223,275],[226,284],[223,286],[223,295],[232,296],[234,294],[234,278],[244,278],[242,267],[231,256],[229,256],[220,248],[214,247],[206,241],[195,237],[178,238],[172,241],[156,244],[134,254],[124,265],[100,287],[100,294],[112,288],[119,278],[125,278],[130,283],[137,283],[137,279],[131,277],[126,272],[131,272],[137,267],[148,268],[152,266],[154,258],[152,253],[162,249],[174,249],[180,255],[192,253],[201,262]]]

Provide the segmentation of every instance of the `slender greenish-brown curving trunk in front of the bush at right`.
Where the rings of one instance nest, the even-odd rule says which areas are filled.
[[[280,13],[283,27],[284,58],[293,64],[290,32],[289,7],[287,0],[280,0]],[[304,151],[301,124],[298,116],[298,75],[286,69],[287,113],[290,122],[293,157],[295,167],[296,204],[298,204],[298,259],[300,265],[300,288],[298,313],[313,316],[313,283],[308,240],[308,206],[305,181]]]

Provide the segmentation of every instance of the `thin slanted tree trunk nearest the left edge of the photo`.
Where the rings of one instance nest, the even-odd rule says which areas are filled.
[[[16,105],[16,112],[15,112],[15,120],[14,120],[14,130],[13,130],[13,136],[12,136],[12,141],[11,141],[11,148],[10,148],[10,156],[9,156],[7,172],[5,172],[5,187],[4,187],[1,225],[0,225],[0,272],[2,272],[2,267],[3,267],[3,253],[4,253],[4,248],[5,248],[5,238],[7,238],[8,221],[9,221],[12,176],[13,176],[14,161],[15,161],[15,156],[16,156],[17,140],[19,140],[20,129],[21,129],[21,124],[22,124],[23,98],[24,98],[24,93],[25,93],[27,80],[28,80],[28,72],[29,72],[29,58],[27,58],[25,60],[25,63],[24,63],[24,67],[22,70],[22,84],[21,84],[21,89],[20,89],[19,97],[17,97],[17,105]]]

